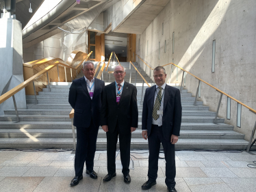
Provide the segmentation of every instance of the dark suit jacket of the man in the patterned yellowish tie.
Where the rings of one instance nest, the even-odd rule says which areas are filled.
[[[146,89],[142,111],[142,131],[147,130],[148,136],[151,133],[152,113],[155,100],[155,85]],[[170,141],[171,135],[179,136],[181,129],[181,94],[175,87],[166,84],[164,91],[164,111],[162,130],[164,138]]]

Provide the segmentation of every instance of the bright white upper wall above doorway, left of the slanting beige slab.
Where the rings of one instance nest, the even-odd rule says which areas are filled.
[[[142,0],[120,0],[104,12],[104,30],[112,23],[112,31],[137,7]]]

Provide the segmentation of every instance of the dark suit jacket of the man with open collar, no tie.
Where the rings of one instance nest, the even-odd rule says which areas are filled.
[[[84,77],[75,79],[69,88],[68,102],[75,109],[74,126],[89,127],[91,120],[93,120],[94,126],[99,128],[101,122],[101,101],[105,83],[96,78],[94,78],[94,82],[92,100]]]

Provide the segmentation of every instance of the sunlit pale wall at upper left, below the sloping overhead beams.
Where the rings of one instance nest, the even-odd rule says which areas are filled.
[[[66,61],[72,51],[87,53],[87,32],[70,34],[62,31],[38,44],[23,49],[23,61],[34,61],[44,57],[57,57]]]

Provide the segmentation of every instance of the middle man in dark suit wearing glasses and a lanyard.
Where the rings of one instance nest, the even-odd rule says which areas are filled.
[[[137,89],[124,81],[125,69],[114,69],[116,81],[105,86],[101,110],[101,126],[107,133],[107,176],[104,182],[116,176],[116,143],[119,135],[120,158],[126,183],[129,176],[131,133],[138,127]]]

